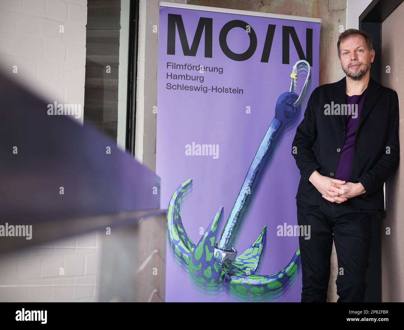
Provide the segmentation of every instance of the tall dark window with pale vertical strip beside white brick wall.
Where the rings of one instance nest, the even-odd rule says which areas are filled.
[[[138,8],[139,1],[87,1],[84,126],[97,126],[132,153]]]

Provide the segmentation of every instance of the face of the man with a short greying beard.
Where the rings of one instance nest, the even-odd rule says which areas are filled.
[[[339,49],[341,53],[339,62],[347,77],[361,80],[375,59],[375,51],[369,51],[365,38],[359,34],[341,41]]]

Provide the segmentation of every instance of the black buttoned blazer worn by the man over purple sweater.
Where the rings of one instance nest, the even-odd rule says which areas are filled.
[[[292,155],[301,179],[295,198],[320,205],[321,193],[309,181],[317,169],[333,178],[345,141],[345,114],[325,115],[324,105],[346,103],[346,77],[339,82],[324,84],[313,90],[304,118],[297,126],[292,143]],[[398,166],[398,95],[391,88],[369,79],[359,116],[354,143],[351,177],[348,182],[360,182],[366,193],[350,198],[358,208],[384,210],[383,184]]]

